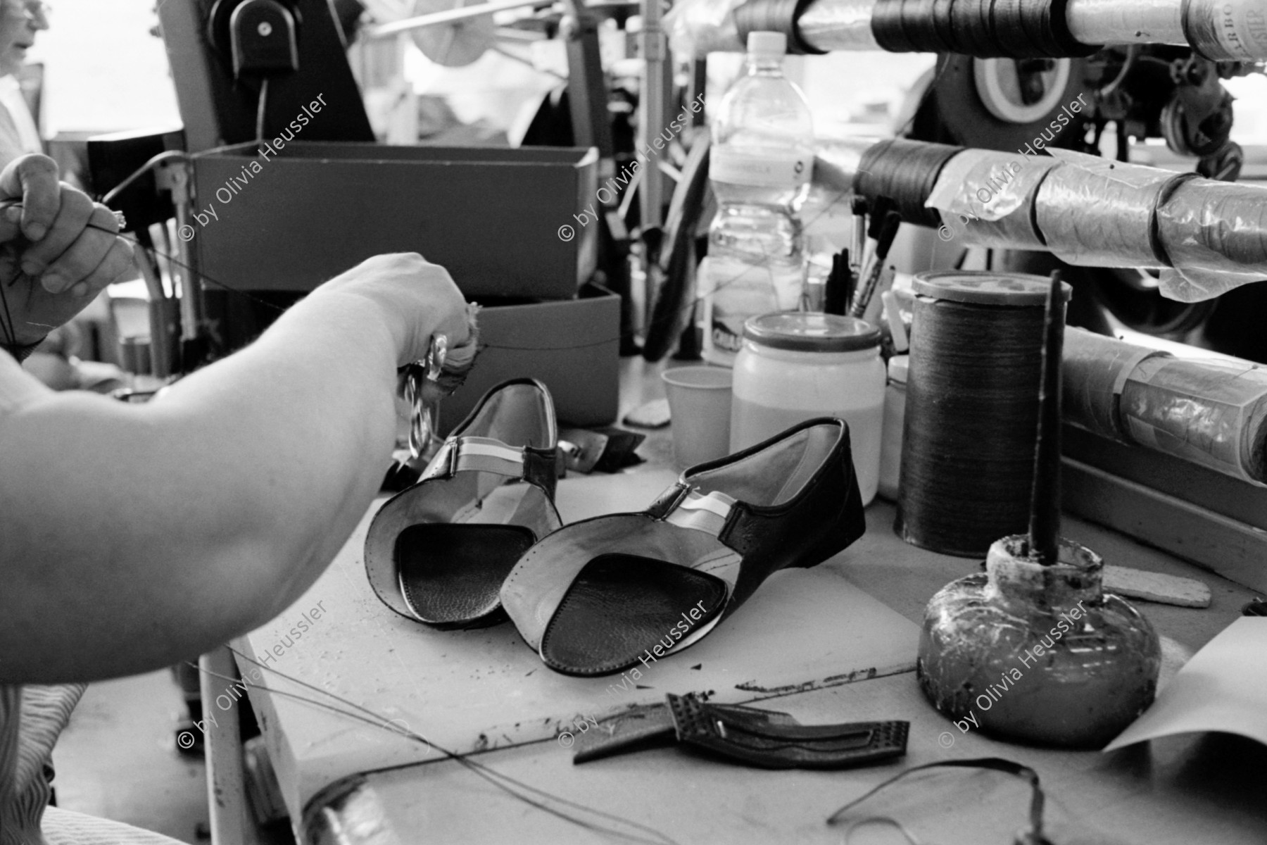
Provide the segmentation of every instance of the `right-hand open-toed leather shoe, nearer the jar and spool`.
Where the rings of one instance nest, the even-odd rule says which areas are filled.
[[[864,530],[849,427],[811,419],[688,469],[641,513],[547,536],[502,604],[551,669],[612,674],[698,642],[772,573],[820,564]]]

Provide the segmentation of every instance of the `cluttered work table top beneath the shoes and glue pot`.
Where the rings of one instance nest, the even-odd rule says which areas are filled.
[[[663,365],[647,365],[637,359],[622,361],[622,413],[663,395],[658,378],[663,369]],[[666,432],[651,433],[639,452],[647,464],[626,475],[585,479],[587,486],[576,489],[583,489],[589,498],[594,490],[627,490],[641,485],[641,494],[642,488],[654,489],[664,479],[672,480],[666,471],[670,446]],[[575,493],[569,495],[575,500]],[[564,521],[570,522],[576,516],[565,512],[566,500],[568,495],[561,492],[560,511]],[[644,500],[650,502],[650,498],[644,497]],[[588,504],[602,507],[602,503]],[[545,726],[525,727],[514,736],[484,737],[487,742],[481,747],[488,750],[473,759],[555,796],[637,821],[684,845],[843,842],[848,825],[829,827],[825,823],[841,804],[908,766],[981,756],[1007,758],[1039,773],[1048,798],[1048,835],[1058,845],[1076,841],[1261,845],[1267,841],[1267,775],[1263,774],[1267,772],[1267,747],[1251,740],[1232,735],[1187,735],[1110,754],[1066,753],[996,742],[973,731],[963,734],[935,712],[920,694],[910,669],[914,644],[906,637],[914,626],[898,617],[919,625],[925,604],[938,589],[978,571],[981,564],[903,543],[893,535],[893,505],[877,500],[867,509],[868,530],[858,542],[815,570],[798,570],[798,576],[821,570],[815,576],[826,579],[822,583],[839,583],[853,593],[874,597],[896,614],[862,604],[859,613],[870,614],[863,617],[867,619],[879,619],[877,625],[895,626],[892,630],[901,631],[895,636],[902,642],[886,642],[881,637],[877,645],[868,646],[883,652],[884,658],[877,658],[868,666],[869,673],[851,682],[841,683],[840,677],[834,677],[829,685],[821,673],[807,674],[802,690],[793,690],[791,685],[782,692],[767,688],[746,698],[732,694],[730,701],[760,699],[759,706],[787,711],[805,723],[907,720],[911,730],[905,758],[840,772],[765,772],[664,747],[575,766],[571,754],[554,739],[557,726]],[[414,658],[409,658],[413,663],[405,660],[405,655],[413,654],[411,649],[427,642],[424,639],[433,632],[395,616],[374,597],[361,560],[366,523],[367,519],[308,594],[277,621],[236,642],[236,647],[246,654],[267,652],[295,625],[295,618],[323,602],[326,612],[321,619],[310,619],[309,632],[293,639],[291,646],[283,649],[283,655],[270,668],[302,678],[314,689],[334,692],[357,703],[372,702],[366,706],[386,718],[404,720],[409,730],[423,735],[442,734],[447,726],[433,723],[438,711],[432,707],[417,712],[419,702],[456,696],[459,690],[473,689],[473,683],[476,690],[484,684],[489,694],[511,689],[502,678],[511,669],[525,677],[550,673],[518,641],[508,623],[483,632],[456,632],[459,636],[447,641],[452,646],[446,646],[442,655],[443,670],[423,665]],[[1245,588],[1087,522],[1067,519],[1063,533],[1100,552],[1106,562],[1199,578],[1210,585],[1213,603],[1206,609],[1135,602],[1163,637],[1163,683],[1194,650],[1234,621],[1252,598]],[[774,589],[780,589],[775,588],[774,579],[761,588]],[[761,590],[726,625],[765,625],[770,637],[789,626],[807,625],[793,619],[796,607],[769,602],[758,606]],[[859,600],[863,599],[865,597]],[[745,611],[750,611],[749,619],[741,619]],[[811,627],[821,623],[832,642],[807,641],[803,644],[806,651],[839,646],[841,654],[848,654],[850,640],[875,636],[874,631],[856,630],[864,622],[856,622],[855,628],[849,627],[851,621],[846,618],[811,622]],[[723,631],[725,626],[712,636]],[[659,680],[673,685],[682,677],[682,669],[696,663],[692,654],[697,650],[708,654],[703,651],[707,642],[706,639],[683,655],[670,655],[664,661],[664,674],[649,673],[645,683],[655,687]],[[758,658],[759,650],[758,645],[754,661],[770,659],[769,655]],[[902,665],[891,660],[898,652],[906,655],[898,661]],[[247,674],[258,673],[241,660],[239,668]],[[372,674],[379,680],[374,684],[378,688],[351,683],[350,673],[353,671]],[[461,683],[445,680],[459,673],[464,675]],[[481,673],[488,677],[466,678]],[[264,677],[269,689],[253,688],[252,703],[261,716],[291,818],[303,816],[302,826],[296,823],[295,827],[302,827],[303,837],[309,841],[616,841],[609,835],[584,830],[530,807],[460,763],[419,747],[418,742],[289,699],[275,690],[300,688],[269,670]],[[546,678],[547,684],[555,685],[540,688],[571,689],[566,684],[574,680],[556,684],[555,679]],[[393,690],[399,690],[402,707],[398,711],[384,704],[395,701],[393,696],[398,693]],[[649,690],[651,698],[645,701],[654,701],[661,693],[663,689]],[[305,696],[317,697],[317,693],[308,690]],[[447,703],[459,711],[479,711],[480,704],[478,701]],[[850,820],[892,816],[921,841],[939,845],[1009,845],[1022,826],[1028,806],[1029,788],[1014,778],[979,770],[934,770],[900,782],[869,799],[850,815]],[[559,808],[573,812],[568,807]],[[640,835],[656,839],[645,831]],[[879,845],[903,840],[892,829],[869,826],[851,834],[849,841]]]

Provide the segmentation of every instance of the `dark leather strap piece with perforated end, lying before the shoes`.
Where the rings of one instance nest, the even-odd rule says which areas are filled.
[[[758,709],[668,696],[678,741],[765,769],[843,769],[906,754],[910,722],[788,725]]]

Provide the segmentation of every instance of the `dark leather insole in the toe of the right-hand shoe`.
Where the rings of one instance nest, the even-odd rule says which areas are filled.
[[[541,656],[568,675],[607,675],[640,658],[650,665],[725,603],[726,584],[716,575],[639,555],[599,555],[564,594],[541,637]],[[692,608],[702,611],[696,621]]]

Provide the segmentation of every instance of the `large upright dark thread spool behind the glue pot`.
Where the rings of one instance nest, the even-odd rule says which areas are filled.
[[[915,277],[895,524],[906,542],[979,557],[1026,531],[1049,286],[1020,274]]]

